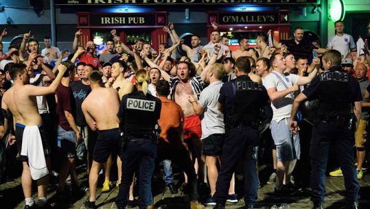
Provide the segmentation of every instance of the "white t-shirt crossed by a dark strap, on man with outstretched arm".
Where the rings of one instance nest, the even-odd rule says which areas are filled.
[[[273,73],[269,73],[264,79],[264,86],[266,90],[269,88],[276,88],[277,91],[286,90],[286,87],[283,83],[281,83],[280,79],[277,77],[277,75],[275,75],[275,73],[281,77],[288,88],[292,87],[294,84],[297,84],[297,80],[299,79],[299,75],[290,74],[285,76],[277,71],[273,71]],[[279,122],[282,119],[290,117],[290,112],[292,112],[292,103],[293,98],[291,94],[288,94],[281,99],[275,99],[275,101],[271,101],[271,108],[273,108],[273,120]]]

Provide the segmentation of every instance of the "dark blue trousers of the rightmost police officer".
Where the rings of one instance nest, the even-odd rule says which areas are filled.
[[[354,132],[345,127],[336,127],[334,124],[323,122],[312,129],[311,201],[318,203],[325,199],[325,171],[331,146],[345,177],[345,198],[348,202],[358,201],[360,186],[354,166]]]

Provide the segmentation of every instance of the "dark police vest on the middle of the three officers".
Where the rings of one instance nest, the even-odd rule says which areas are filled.
[[[263,92],[260,84],[253,82],[249,77],[240,76],[233,79],[235,92],[233,103],[227,107],[227,126],[239,123],[253,123],[259,115],[259,95]]]

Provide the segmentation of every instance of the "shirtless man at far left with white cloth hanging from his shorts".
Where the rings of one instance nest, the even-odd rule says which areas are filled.
[[[33,60],[33,58],[32,58]],[[32,61],[31,61],[32,62]],[[25,64],[14,64],[12,69],[10,69],[10,75],[14,81],[14,86],[10,88],[3,95],[3,100],[1,103],[1,108],[4,110],[10,110],[12,112],[15,122],[15,132],[16,132],[16,142],[19,153],[22,149],[22,140],[27,136],[23,136],[25,129],[37,128],[41,134],[41,140],[43,143],[43,150],[45,153],[45,158],[48,158],[50,147],[47,143],[47,138],[45,137],[45,132],[43,130],[43,120],[38,113],[38,108],[36,104],[36,96],[48,95],[54,93],[62,75],[65,73],[66,67],[62,64],[58,66],[58,76],[54,79],[54,82],[50,86],[34,86],[30,85],[30,77]],[[5,121],[5,125],[7,122]],[[6,130],[6,128],[5,128]],[[36,141],[37,138],[32,138],[30,140]],[[31,151],[27,149],[27,152]],[[40,161],[45,160],[38,159]],[[34,200],[32,199],[32,176],[30,173],[30,167],[28,166],[27,156],[21,155],[21,160],[23,161],[23,172],[22,172],[22,188],[23,194],[25,195],[25,208],[32,208],[34,206]],[[47,160],[46,160],[47,162]],[[48,175],[37,180],[38,185],[38,206],[45,206],[46,204],[46,192],[47,192],[47,182]]]

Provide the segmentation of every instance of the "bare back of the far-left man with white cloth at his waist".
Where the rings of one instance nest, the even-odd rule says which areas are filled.
[[[1,108],[9,109],[16,123],[23,125],[41,125],[43,120],[38,114],[36,97],[28,95],[25,88],[30,85],[14,85],[3,95]]]

